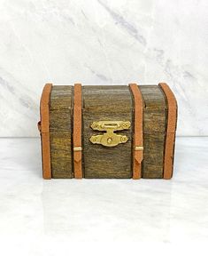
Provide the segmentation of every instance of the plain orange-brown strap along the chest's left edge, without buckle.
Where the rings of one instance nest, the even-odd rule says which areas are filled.
[[[51,179],[50,168],[50,92],[52,84],[45,84],[41,98],[41,122],[38,122],[38,129],[42,137],[42,177]]]

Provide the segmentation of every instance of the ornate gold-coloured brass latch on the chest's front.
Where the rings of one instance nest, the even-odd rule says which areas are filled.
[[[101,135],[92,135],[89,140],[93,144],[102,144],[105,147],[114,147],[119,143],[127,142],[126,135],[114,133],[115,131],[128,130],[131,126],[129,121],[98,121],[93,122],[90,127],[96,131],[105,131]]]

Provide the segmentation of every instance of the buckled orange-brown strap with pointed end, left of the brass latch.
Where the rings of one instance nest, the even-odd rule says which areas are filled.
[[[73,168],[74,178],[82,178],[81,170],[81,84],[74,84],[73,96]]]

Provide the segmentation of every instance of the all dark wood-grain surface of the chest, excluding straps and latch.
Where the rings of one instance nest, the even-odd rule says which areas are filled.
[[[143,94],[143,178],[163,178],[166,97],[158,85],[140,85]],[[85,178],[132,178],[134,98],[127,85],[82,86],[82,169]],[[73,178],[73,86],[53,86],[50,96],[50,153],[53,178]],[[127,143],[92,144],[94,121],[129,121]]]

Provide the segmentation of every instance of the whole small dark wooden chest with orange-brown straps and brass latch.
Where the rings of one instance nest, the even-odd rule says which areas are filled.
[[[42,91],[42,173],[171,179],[177,103],[158,85],[52,85]]]

